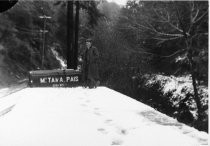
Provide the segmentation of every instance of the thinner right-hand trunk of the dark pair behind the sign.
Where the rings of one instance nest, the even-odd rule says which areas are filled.
[[[77,69],[77,64],[78,64],[79,9],[80,9],[79,1],[76,1],[74,69]]]

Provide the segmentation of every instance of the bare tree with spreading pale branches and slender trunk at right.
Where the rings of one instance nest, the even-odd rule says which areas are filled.
[[[149,8],[150,6],[150,8]],[[151,7],[152,6],[152,7]],[[198,94],[198,76],[195,58],[204,49],[208,51],[208,2],[205,1],[166,1],[142,2],[128,1],[127,8],[132,12],[127,28],[136,32],[149,33],[157,45],[175,41],[183,47],[163,57],[184,56],[190,67],[194,100],[197,104],[198,117],[201,117],[201,99]]]

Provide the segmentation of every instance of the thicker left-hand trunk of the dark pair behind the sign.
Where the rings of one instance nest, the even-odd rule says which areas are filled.
[[[67,2],[67,69],[74,69],[74,11],[73,0]]]

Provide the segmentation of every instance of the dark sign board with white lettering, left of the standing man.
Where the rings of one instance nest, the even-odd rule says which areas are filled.
[[[82,83],[78,70],[37,70],[29,72],[30,87],[75,87]]]

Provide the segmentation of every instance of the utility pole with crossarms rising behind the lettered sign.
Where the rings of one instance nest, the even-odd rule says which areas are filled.
[[[44,69],[44,52],[45,52],[45,33],[47,33],[48,31],[46,30],[46,19],[51,19],[52,17],[50,16],[39,16],[40,19],[43,19],[43,23],[44,23],[44,28],[43,30],[40,30],[40,32],[43,34],[43,44],[42,44],[42,66],[41,69]]]

